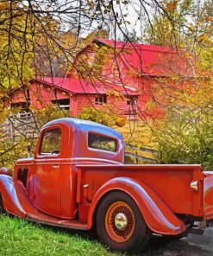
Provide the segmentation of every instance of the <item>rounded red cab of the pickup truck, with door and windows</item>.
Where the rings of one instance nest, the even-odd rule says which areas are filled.
[[[110,127],[78,118],[61,118],[42,130],[33,158],[16,162],[34,206],[45,214],[73,219],[77,213],[78,164],[122,164],[122,135]]]

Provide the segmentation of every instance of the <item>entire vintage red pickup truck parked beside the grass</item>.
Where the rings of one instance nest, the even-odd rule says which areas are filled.
[[[213,218],[213,172],[200,165],[125,165],[122,135],[104,125],[60,118],[45,125],[34,157],[13,175],[0,170],[0,209],[28,221],[97,228],[120,251],[145,236],[185,235]]]

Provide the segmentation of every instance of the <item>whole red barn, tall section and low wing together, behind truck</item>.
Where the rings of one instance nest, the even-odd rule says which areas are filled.
[[[76,55],[66,77],[41,77],[15,90],[9,107],[53,104],[72,117],[84,107],[106,107],[131,118],[161,118],[166,96],[183,89],[191,65],[177,49],[94,39]],[[150,102],[154,104],[150,104]]]

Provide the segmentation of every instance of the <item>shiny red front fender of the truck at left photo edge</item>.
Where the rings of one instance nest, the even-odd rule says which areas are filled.
[[[18,200],[15,183],[11,176],[0,175],[0,195],[5,211],[9,214],[25,218],[26,213]]]

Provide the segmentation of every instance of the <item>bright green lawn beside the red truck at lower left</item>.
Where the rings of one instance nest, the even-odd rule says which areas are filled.
[[[0,216],[1,256],[121,255],[110,253],[92,234],[45,227]]]

